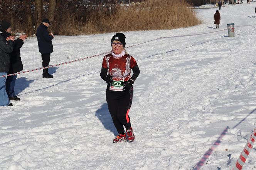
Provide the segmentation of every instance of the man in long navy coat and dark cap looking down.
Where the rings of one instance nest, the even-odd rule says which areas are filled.
[[[50,25],[50,21],[45,18],[37,28],[37,42],[39,52],[42,55],[43,67],[49,66],[51,53],[53,52],[52,39],[54,38],[54,35],[47,30]],[[43,69],[43,78],[53,78],[53,76],[49,74],[48,68]]]

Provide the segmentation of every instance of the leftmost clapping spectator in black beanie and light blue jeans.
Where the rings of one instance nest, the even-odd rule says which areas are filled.
[[[10,27],[10,24],[5,21],[0,22],[0,30],[5,30]],[[8,95],[6,93],[5,81],[6,75],[10,67],[10,56],[9,53],[13,51],[13,41],[15,37],[9,36],[4,37],[2,31],[0,31],[0,106],[12,106]]]

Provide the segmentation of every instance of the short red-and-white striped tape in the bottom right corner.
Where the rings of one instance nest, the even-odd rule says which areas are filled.
[[[251,137],[249,138],[248,142],[246,143],[240,157],[236,161],[236,165],[234,166],[234,168],[232,168],[232,170],[242,170],[243,165],[246,161],[246,158],[248,157],[248,155],[251,151],[251,148],[253,147],[253,144],[255,142],[255,138],[256,138],[256,132],[255,132],[255,129],[254,129],[253,134],[251,134]]]

